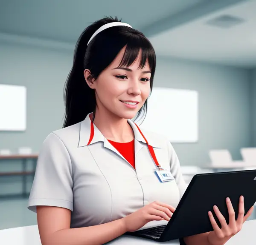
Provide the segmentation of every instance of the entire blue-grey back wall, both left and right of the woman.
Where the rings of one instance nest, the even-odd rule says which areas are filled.
[[[15,152],[30,146],[37,152],[45,137],[62,126],[63,88],[73,52],[2,44],[0,53],[0,82],[25,85],[28,93],[26,132],[0,132],[0,148]],[[241,158],[239,148],[251,144],[249,80],[243,69],[157,58],[155,86],[199,92],[199,141],[173,144],[182,165],[207,164],[212,148],[227,148],[235,160]],[[18,168],[18,162],[0,164],[0,171]],[[20,181],[0,178],[0,194],[20,191]]]

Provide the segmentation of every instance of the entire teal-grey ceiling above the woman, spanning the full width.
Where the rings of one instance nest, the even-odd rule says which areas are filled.
[[[256,66],[256,0],[8,0],[0,3],[0,41],[73,49],[104,16],[142,31],[158,55],[239,67]],[[209,26],[221,14],[244,18]]]

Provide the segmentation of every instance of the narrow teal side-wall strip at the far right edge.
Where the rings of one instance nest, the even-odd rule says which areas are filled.
[[[251,115],[252,115],[252,134],[253,134],[253,147],[256,147],[256,69],[252,71],[251,79]]]

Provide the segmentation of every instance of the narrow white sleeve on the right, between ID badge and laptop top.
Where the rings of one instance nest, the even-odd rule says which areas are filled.
[[[187,185],[183,178],[181,169],[180,169],[180,161],[177,157],[177,154],[171,144],[171,142],[168,141],[168,152],[170,157],[170,171],[175,178],[175,182],[179,188],[180,191],[180,198],[183,196],[184,192],[186,191]]]

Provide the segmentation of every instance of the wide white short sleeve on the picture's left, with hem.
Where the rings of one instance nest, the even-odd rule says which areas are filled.
[[[73,174],[70,155],[61,139],[51,133],[38,156],[28,208],[55,206],[73,211]]]

